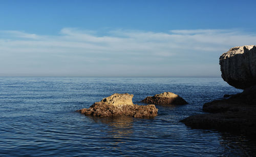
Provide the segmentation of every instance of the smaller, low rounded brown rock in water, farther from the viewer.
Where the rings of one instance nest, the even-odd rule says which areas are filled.
[[[156,104],[156,105],[187,104],[187,102],[183,98],[181,98],[177,94],[170,93],[170,92],[157,94],[153,97],[146,97],[144,100],[142,100],[142,102],[148,103],[148,104]]]

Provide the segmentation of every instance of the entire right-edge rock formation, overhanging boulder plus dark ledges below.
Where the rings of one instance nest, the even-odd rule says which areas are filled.
[[[203,110],[210,114],[190,116],[182,122],[192,128],[214,128],[256,138],[256,47],[231,48],[220,57],[220,65],[222,78],[244,91],[205,103]]]

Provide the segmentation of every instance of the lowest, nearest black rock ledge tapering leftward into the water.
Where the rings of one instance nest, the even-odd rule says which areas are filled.
[[[255,109],[253,110],[255,111]],[[252,111],[228,111],[226,113],[202,114],[190,116],[181,122],[191,128],[197,129],[217,129],[219,131],[229,131],[244,134],[250,138],[256,138],[255,125],[256,117]]]

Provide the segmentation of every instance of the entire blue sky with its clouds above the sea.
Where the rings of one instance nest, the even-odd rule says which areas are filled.
[[[221,77],[256,1],[0,0],[0,76]]]

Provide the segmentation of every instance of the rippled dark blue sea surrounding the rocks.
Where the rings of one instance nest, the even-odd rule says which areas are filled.
[[[134,94],[134,103],[143,104],[166,91],[189,104],[157,106],[154,119],[74,112],[114,93]],[[179,122],[202,113],[203,103],[238,92],[221,78],[0,78],[0,155],[253,156],[255,141]]]

